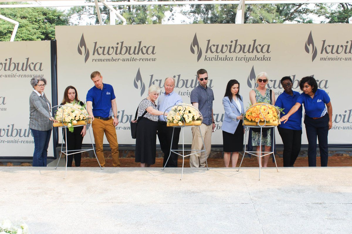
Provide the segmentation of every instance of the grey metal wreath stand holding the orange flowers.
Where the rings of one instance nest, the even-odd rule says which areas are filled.
[[[268,111],[268,109],[269,109],[268,105],[269,105],[269,106],[273,106],[273,105],[270,105],[270,104],[263,104],[263,103],[256,104],[256,105],[253,105],[253,106],[260,106],[260,107],[259,107],[259,112],[260,112],[260,114],[263,115],[263,113],[262,113],[262,106],[265,106],[265,107],[266,107],[266,109],[265,109],[264,111]],[[250,108],[252,108],[253,106],[249,107],[249,108],[245,111],[245,113],[247,113],[247,111],[248,111]],[[280,111],[279,111],[279,109],[278,109],[276,106],[273,106],[273,107],[275,107],[275,108],[277,109],[278,119],[280,119]],[[263,115],[263,116],[264,116],[264,115]],[[254,126],[254,125],[246,125],[244,121],[243,121],[243,125],[245,126],[245,129],[246,129],[246,130],[245,130],[245,138],[244,138],[244,140],[245,140],[245,143],[244,143],[244,153],[243,153],[243,156],[242,156],[242,160],[241,160],[240,166],[238,167],[238,170],[237,170],[237,171],[240,170],[241,165],[242,165],[242,162],[243,162],[243,159],[244,159],[244,155],[247,153],[247,154],[250,154],[250,155],[254,155],[254,156],[259,157],[259,180],[260,180],[260,169],[262,168],[262,161],[261,161],[261,159],[262,159],[263,156],[272,154],[272,156],[274,157],[274,162],[275,162],[276,170],[277,170],[277,172],[279,172],[279,170],[277,169],[277,164],[276,164],[276,159],[275,159],[275,154],[274,154],[274,147],[275,147],[275,144],[273,144],[273,147],[271,148],[271,151],[270,151],[270,152],[262,151],[262,132],[263,132],[263,128],[272,128],[272,131],[273,131],[273,134],[274,134],[272,140],[274,141],[274,140],[275,140],[275,126],[266,126],[266,120],[265,120],[265,119],[264,119],[264,124],[263,124],[263,125],[260,125],[259,122],[257,123],[257,126]],[[248,127],[248,129],[247,129],[247,127]],[[258,152],[258,151],[246,151],[246,145],[247,145],[247,144],[246,144],[246,142],[247,142],[247,141],[246,141],[246,138],[247,138],[247,131],[249,130],[249,128],[260,128],[260,144],[259,144],[260,149],[259,149],[259,152]],[[259,153],[260,156],[258,156],[256,153]],[[262,153],[264,153],[264,154],[262,155]]]

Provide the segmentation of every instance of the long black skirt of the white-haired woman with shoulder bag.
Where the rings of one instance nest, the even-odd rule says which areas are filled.
[[[142,118],[137,124],[136,162],[155,164],[158,122]]]

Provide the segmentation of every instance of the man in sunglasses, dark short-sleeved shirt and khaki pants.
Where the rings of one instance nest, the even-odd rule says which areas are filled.
[[[207,86],[208,72],[205,69],[199,69],[197,71],[197,78],[199,85],[191,91],[191,103],[194,107],[199,109],[200,113],[203,115],[203,120],[200,131],[198,126],[192,127],[193,139],[191,150],[204,149],[203,139],[206,152],[191,155],[189,165],[190,167],[205,167],[206,159],[212,148],[212,132],[215,128],[213,116],[214,93],[213,90]],[[193,151],[191,153],[195,152],[196,151]]]

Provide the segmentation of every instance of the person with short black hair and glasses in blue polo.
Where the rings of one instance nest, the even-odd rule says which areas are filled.
[[[292,79],[284,76],[281,79],[284,92],[278,96],[275,105],[283,108],[284,113],[288,113],[296,104],[300,93],[292,90]],[[281,113],[283,115],[283,113]],[[282,143],[284,144],[283,161],[284,167],[293,167],[298,154],[301,151],[302,141],[302,106],[290,117],[290,121],[277,126]]]

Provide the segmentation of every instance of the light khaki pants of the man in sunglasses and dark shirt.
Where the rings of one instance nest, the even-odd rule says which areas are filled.
[[[200,131],[199,132],[199,127]],[[205,152],[202,153],[196,153],[191,156],[189,156],[189,166],[190,167],[205,167],[205,161],[209,157],[210,150],[212,148],[212,131],[213,131],[213,125],[205,125],[202,123],[201,126],[195,126],[192,127],[192,135],[193,135],[193,140],[192,140],[192,147],[191,147],[191,153],[195,153],[196,149],[204,149],[202,138],[204,140],[204,145],[205,145]]]

